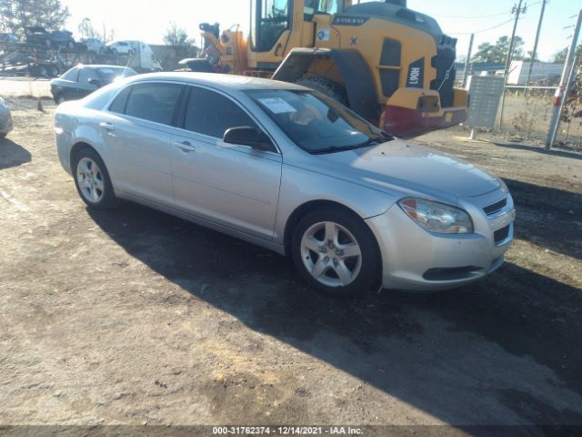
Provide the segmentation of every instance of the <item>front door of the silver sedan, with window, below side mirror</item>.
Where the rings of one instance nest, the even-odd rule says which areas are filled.
[[[172,138],[176,207],[261,239],[272,239],[281,155],[226,144],[230,127],[255,119],[225,94],[189,86],[183,120]]]

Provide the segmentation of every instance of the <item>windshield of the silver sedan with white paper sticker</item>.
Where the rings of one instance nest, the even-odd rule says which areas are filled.
[[[316,91],[246,92],[286,136],[309,153],[331,153],[389,141],[391,136]]]

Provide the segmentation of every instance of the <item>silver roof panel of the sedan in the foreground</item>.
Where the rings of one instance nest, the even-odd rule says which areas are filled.
[[[278,80],[262,79],[251,76],[221,75],[217,73],[150,73],[133,76],[130,82],[142,82],[146,80],[168,80],[191,83],[192,85],[206,85],[219,89],[249,90],[249,89],[294,89],[306,90],[305,86],[299,86]]]

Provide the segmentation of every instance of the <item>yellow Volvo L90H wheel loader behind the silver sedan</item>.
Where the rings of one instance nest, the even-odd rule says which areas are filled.
[[[400,137],[467,118],[457,40],[406,0],[251,0],[250,35],[202,24],[194,71],[268,77],[316,89]]]

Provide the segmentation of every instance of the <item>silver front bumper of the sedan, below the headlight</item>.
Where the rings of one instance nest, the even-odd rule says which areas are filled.
[[[473,219],[472,234],[437,234],[420,228],[393,205],[366,223],[382,254],[382,285],[410,291],[446,290],[486,277],[498,269],[513,239],[515,209],[511,196],[495,217],[463,206]],[[506,231],[496,243],[496,231]],[[497,233],[497,239],[498,239]]]

